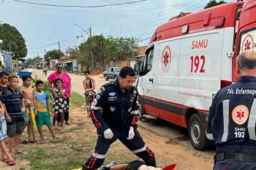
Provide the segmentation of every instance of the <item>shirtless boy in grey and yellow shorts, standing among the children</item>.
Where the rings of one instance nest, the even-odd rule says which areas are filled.
[[[34,97],[34,88],[31,88],[32,77],[30,75],[23,75],[23,88],[21,88],[21,93],[25,102],[25,113],[23,114],[25,123],[23,126],[23,131],[27,127],[29,142],[34,142],[32,136],[32,128],[35,128],[35,115],[37,115],[37,111],[35,111],[34,104],[36,103],[36,99]],[[31,117],[29,115],[29,107],[31,110]],[[26,142],[26,141],[24,141]]]

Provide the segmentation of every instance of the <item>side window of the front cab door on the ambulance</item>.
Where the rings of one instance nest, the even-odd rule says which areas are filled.
[[[154,53],[153,48],[146,51],[142,66],[140,68],[140,76],[143,76],[151,71],[152,63],[153,63],[153,53]]]

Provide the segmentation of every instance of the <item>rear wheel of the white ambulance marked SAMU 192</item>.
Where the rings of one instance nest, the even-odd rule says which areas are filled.
[[[189,119],[189,140],[196,150],[206,150],[210,141],[206,138],[206,131],[203,128],[199,115],[194,114]]]

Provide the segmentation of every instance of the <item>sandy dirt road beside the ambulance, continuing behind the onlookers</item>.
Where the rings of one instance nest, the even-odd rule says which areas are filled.
[[[37,75],[38,79],[46,80],[46,77],[42,77],[42,70],[33,70],[33,74]],[[72,79],[72,91],[83,94],[83,76],[78,74],[69,75]],[[102,76],[96,76],[94,80],[97,89],[107,82]],[[152,147],[157,157],[170,163],[180,164],[178,169],[211,169],[214,151],[200,152],[195,150],[189,142],[186,129],[167,123],[164,120],[152,120],[139,124],[148,146]]]

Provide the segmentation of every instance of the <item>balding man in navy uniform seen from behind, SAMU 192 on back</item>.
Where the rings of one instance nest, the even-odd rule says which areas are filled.
[[[256,52],[237,58],[238,81],[218,91],[206,133],[214,139],[214,170],[256,169]]]

